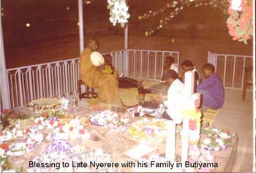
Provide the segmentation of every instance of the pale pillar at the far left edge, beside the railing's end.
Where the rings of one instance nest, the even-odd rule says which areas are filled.
[[[5,64],[5,56],[4,56],[4,37],[3,31],[1,27],[1,18],[0,18],[0,52],[1,52],[1,109],[10,109],[10,91],[9,91],[9,82],[8,82],[8,75],[7,69]],[[0,105],[1,105],[0,104]]]

